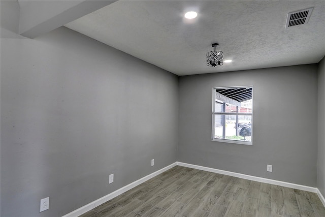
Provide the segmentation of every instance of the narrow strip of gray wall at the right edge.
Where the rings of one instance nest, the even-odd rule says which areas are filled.
[[[318,64],[317,188],[325,196],[325,57]]]

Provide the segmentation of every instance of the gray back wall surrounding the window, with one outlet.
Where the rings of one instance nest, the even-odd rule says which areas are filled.
[[[247,85],[253,145],[212,142],[212,88]],[[180,162],[315,187],[316,123],[316,64],[179,78]]]

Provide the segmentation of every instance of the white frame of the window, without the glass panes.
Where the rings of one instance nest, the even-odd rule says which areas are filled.
[[[241,112],[215,112],[215,101],[216,101],[216,89],[222,88],[253,88],[253,86],[234,86],[234,87],[214,87],[212,88],[212,141],[215,142],[224,142],[224,143],[234,143],[234,144],[243,144],[243,145],[253,145],[253,101],[252,101],[252,112],[251,113],[241,113]],[[252,99],[253,99],[253,89],[252,89]],[[223,114],[223,115],[251,115],[251,124],[252,124],[252,132],[251,132],[251,141],[240,141],[240,140],[232,140],[232,139],[217,139],[214,138],[215,135],[215,114]],[[223,126],[225,128],[225,126]]]

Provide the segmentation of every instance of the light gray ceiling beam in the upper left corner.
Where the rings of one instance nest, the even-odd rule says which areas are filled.
[[[19,1],[19,34],[35,38],[116,1]]]

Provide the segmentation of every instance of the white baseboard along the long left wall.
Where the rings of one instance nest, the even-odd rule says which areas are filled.
[[[116,190],[115,192],[112,192],[112,193],[110,193],[110,194],[108,194],[108,195],[106,195],[106,196],[104,196],[104,197],[102,197],[100,199],[97,199],[97,200],[95,200],[95,201],[93,201],[91,203],[88,203],[88,204],[84,205],[83,207],[80,207],[79,209],[76,209],[76,210],[74,210],[74,211],[72,211],[72,212],[70,212],[70,213],[68,213],[66,215],[63,215],[62,217],[77,217],[77,216],[79,216],[79,215],[81,215],[81,214],[95,208],[96,206],[99,206],[102,203],[105,203],[105,202],[119,196],[120,194],[123,194],[124,192],[135,188],[139,184],[141,184],[141,183],[149,180],[150,178],[153,178],[153,177],[159,175],[160,173],[163,173],[163,172],[165,172],[165,171],[167,171],[170,168],[173,168],[175,166],[176,166],[176,162],[169,165],[169,166],[167,166],[167,167],[164,167],[163,169],[160,169],[160,170],[158,170],[156,172],[153,172],[153,173],[151,173],[151,174],[149,174],[149,175],[147,175],[147,176],[145,176],[143,178],[140,178],[140,179],[138,179],[138,180],[136,180],[136,181],[134,181],[132,183],[129,183],[129,184],[125,185],[124,187]]]

